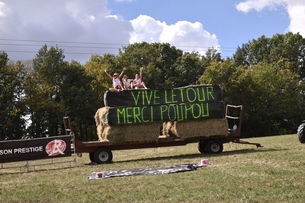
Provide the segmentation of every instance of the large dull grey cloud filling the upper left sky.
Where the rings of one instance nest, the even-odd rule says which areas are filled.
[[[112,16],[107,8],[107,0],[53,0],[23,1],[0,0],[1,39],[47,40],[66,42],[91,42],[127,44],[133,31],[131,23],[121,16]],[[4,17],[5,16],[5,17]],[[44,42],[3,41],[1,44],[44,45]],[[52,43],[47,45],[78,46],[59,47],[65,51],[66,60],[84,63],[90,54],[118,53],[119,45]],[[80,48],[108,47],[108,48]],[[111,49],[111,48],[117,49]],[[0,45],[0,51],[37,52],[39,46]],[[7,52],[11,60],[32,59],[36,53]],[[90,53],[90,54],[68,54]]]

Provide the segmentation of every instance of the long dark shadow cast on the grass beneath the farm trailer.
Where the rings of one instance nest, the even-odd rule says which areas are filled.
[[[132,162],[132,161],[158,161],[158,160],[168,160],[168,159],[194,159],[194,158],[202,158],[203,156],[204,156],[204,158],[209,158],[209,157],[215,157],[215,156],[217,156],[217,157],[229,156],[229,155],[233,155],[233,154],[256,153],[256,152],[275,152],[275,151],[282,151],[282,150],[288,150],[288,149],[266,149],[266,150],[239,149],[239,150],[234,150],[234,151],[225,151],[220,154],[198,153],[198,154],[186,154],[186,155],[176,155],[176,156],[160,156],[160,157],[153,157],[153,158],[115,161],[113,163]]]

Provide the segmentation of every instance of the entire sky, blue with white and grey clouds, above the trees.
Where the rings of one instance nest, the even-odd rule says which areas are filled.
[[[66,60],[84,64],[92,53],[117,54],[121,45],[110,43],[145,40],[188,46],[179,48],[201,54],[205,47],[219,47],[226,57],[263,34],[305,35],[304,22],[303,0],[0,0],[0,51],[8,51],[11,60],[26,60],[41,45],[57,44],[65,49]]]

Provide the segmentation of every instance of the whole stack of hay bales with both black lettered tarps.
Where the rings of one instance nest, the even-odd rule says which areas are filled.
[[[222,90],[218,85],[106,91],[104,103],[107,107],[95,114],[100,141],[157,142],[160,122],[164,121],[171,121],[163,123],[166,137],[228,135],[228,123],[223,118]]]

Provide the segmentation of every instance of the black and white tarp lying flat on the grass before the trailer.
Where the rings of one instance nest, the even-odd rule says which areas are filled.
[[[179,173],[185,171],[192,171],[196,168],[203,167],[200,164],[184,164],[177,166],[168,166],[163,168],[147,168],[147,169],[129,169],[129,170],[111,170],[103,172],[93,172],[88,177],[88,180],[111,178],[120,176],[139,176],[139,175],[156,175],[165,173]]]

